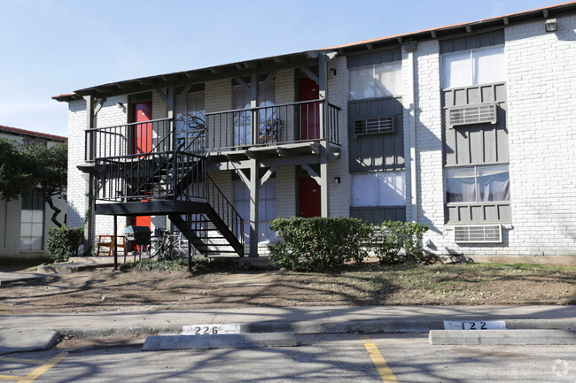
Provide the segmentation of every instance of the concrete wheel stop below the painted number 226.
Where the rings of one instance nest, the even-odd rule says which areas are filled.
[[[294,347],[293,333],[229,333],[222,335],[165,335],[146,339],[143,351],[166,349],[239,349]]]

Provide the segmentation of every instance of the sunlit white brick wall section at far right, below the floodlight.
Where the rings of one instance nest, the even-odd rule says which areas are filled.
[[[506,29],[510,250],[576,255],[576,16]]]

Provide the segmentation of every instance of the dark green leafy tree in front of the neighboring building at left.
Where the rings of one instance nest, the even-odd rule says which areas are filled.
[[[61,227],[58,214],[62,211],[54,199],[66,199],[67,163],[66,142],[50,147],[38,143],[19,146],[0,139],[0,194],[10,201],[35,188],[53,211],[51,221]]]

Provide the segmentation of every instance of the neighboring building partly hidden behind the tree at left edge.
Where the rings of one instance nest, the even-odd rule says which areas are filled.
[[[66,142],[66,137],[31,132],[15,127],[0,126],[0,138],[20,144],[39,143],[50,147]],[[62,210],[58,218],[64,221],[66,201],[54,198]],[[46,241],[48,229],[56,227],[51,221],[51,208],[43,196],[35,190],[19,199],[7,201],[0,195],[0,263],[3,261],[26,261],[48,257]]]

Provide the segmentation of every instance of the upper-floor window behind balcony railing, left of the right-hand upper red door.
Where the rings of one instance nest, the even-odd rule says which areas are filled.
[[[258,106],[274,106],[276,99],[275,81],[269,82],[268,86],[260,89]],[[234,87],[234,109],[250,108],[250,93],[239,85]],[[266,108],[258,111],[259,132],[266,134],[267,121],[276,119],[276,108]],[[252,129],[250,126],[252,112],[239,111],[234,114],[234,144],[244,145],[252,143]]]

